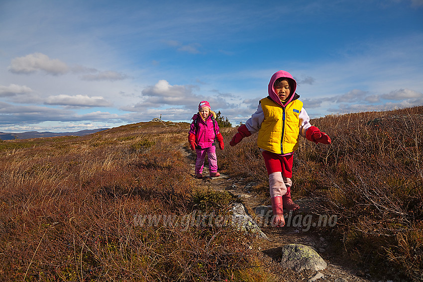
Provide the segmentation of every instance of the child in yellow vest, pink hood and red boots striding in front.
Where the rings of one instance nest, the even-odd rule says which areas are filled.
[[[275,73],[269,82],[269,96],[260,100],[257,111],[238,127],[229,145],[235,146],[242,138],[258,132],[260,148],[269,175],[273,226],[284,226],[283,207],[297,210],[292,201],[293,154],[298,149],[300,135],[310,141],[330,144],[326,133],[310,124],[310,117],[295,90],[297,82],[286,71]]]

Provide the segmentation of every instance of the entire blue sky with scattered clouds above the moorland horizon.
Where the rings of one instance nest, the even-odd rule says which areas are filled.
[[[232,124],[289,71],[312,118],[423,104],[423,0],[0,0],[0,131]]]

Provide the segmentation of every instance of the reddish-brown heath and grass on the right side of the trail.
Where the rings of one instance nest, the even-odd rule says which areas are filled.
[[[312,120],[331,145],[301,138],[294,159],[294,199],[320,199],[338,215],[326,232],[374,275],[423,279],[423,106],[386,112],[329,115]],[[228,133],[226,140],[236,131]],[[253,135],[218,152],[223,170],[260,180],[267,172]]]

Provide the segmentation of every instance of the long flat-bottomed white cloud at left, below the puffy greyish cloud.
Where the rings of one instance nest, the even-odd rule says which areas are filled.
[[[49,105],[67,105],[67,106],[81,106],[81,107],[106,107],[111,106],[111,103],[108,102],[102,96],[93,96],[88,95],[55,95],[48,96],[46,104]]]

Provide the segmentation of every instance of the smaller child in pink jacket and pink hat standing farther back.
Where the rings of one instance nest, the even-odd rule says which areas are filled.
[[[219,126],[215,120],[216,114],[212,111],[208,101],[201,101],[198,113],[194,114],[193,122],[188,133],[188,142],[191,150],[197,152],[196,178],[203,178],[204,159],[209,158],[209,175],[219,177],[217,172],[216,147],[214,138],[217,139],[220,150],[223,150],[223,136],[219,133]]]

